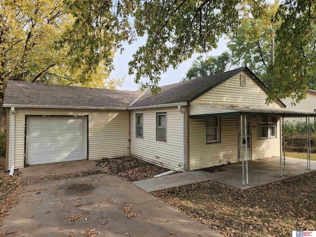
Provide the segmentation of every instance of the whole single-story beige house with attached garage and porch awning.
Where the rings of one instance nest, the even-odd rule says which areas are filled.
[[[189,171],[279,156],[280,118],[316,114],[277,98],[268,106],[266,91],[247,67],[162,86],[156,96],[10,80],[5,168],[131,155]]]

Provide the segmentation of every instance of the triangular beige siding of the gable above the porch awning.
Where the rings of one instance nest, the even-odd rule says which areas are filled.
[[[235,106],[267,106],[267,95],[262,86],[246,72],[246,86],[240,86],[240,74],[227,79],[220,85],[201,95],[191,104],[235,105]],[[279,103],[269,105],[282,108]]]

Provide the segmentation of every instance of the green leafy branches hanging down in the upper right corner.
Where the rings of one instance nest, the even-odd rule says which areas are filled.
[[[306,97],[308,86],[316,84],[316,1],[285,0],[275,20],[282,19],[276,30],[276,61],[272,68],[274,95],[291,96],[294,101]]]

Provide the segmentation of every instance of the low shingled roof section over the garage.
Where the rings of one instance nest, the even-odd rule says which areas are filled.
[[[3,107],[7,105],[67,107],[127,107],[142,92],[50,85],[9,80]]]

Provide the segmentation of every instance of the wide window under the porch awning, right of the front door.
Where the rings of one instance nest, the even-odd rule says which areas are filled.
[[[258,115],[258,139],[276,138],[276,117]]]

